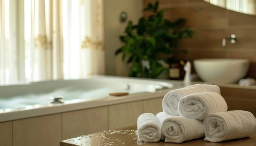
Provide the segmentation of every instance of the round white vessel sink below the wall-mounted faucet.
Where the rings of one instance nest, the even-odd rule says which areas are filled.
[[[246,76],[249,68],[247,59],[202,58],[194,60],[198,76],[205,82],[235,83]]]

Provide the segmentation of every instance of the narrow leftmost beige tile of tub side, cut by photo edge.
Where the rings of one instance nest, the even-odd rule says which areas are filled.
[[[13,122],[0,123],[0,146],[13,146]]]

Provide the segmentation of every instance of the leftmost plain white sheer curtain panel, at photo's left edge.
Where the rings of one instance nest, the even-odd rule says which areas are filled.
[[[10,5],[13,9],[6,9]],[[18,81],[15,8],[15,0],[0,0],[0,84]]]

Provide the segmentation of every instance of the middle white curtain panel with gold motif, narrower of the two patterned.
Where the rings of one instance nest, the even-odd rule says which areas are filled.
[[[61,6],[61,0],[35,0],[33,81],[63,78]]]

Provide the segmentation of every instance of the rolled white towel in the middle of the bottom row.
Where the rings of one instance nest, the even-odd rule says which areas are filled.
[[[171,116],[165,112],[157,113],[161,122],[162,138],[165,142],[182,143],[204,136],[203,121],[183,116]]]

